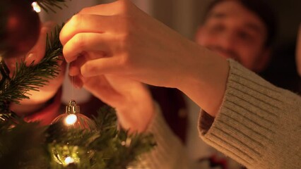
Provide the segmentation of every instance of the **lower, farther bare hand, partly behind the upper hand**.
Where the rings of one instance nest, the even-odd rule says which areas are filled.
[[[121,127],[130,132],[146,130],[154,114],[153,99],[146,85],[116,75],[72,78],[73,82],[81,78],[85,89],[114,107]]]

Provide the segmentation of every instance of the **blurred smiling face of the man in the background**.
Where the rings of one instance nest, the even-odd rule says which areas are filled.
[[[266,26],[255,13],[237,1],[223,1],[208,13],[196,42],[259,72],[269,58],[266,36]]]

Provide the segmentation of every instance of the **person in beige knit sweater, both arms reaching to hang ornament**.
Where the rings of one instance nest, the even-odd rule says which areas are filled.
[[[301,165],[300,96],[189,41],[130,1],[85,8],[66,23],[60,39],[73,63],[69,74],[117,108],[121,127],[153,131],[158,147],[146,154],[153,168],[185,168],[183,154],[135,80],[187,94],[203,109],[201,137],[247,168]],[[126,80],[127,87],[117,85]]]

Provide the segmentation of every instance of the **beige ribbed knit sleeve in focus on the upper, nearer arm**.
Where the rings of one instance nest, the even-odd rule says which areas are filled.
[[[216,118],[201,112],[202,139],[247,168],[300,168],[301,98],[228,60]]]

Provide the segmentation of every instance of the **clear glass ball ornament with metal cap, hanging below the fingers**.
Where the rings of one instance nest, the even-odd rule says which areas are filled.
[[[76,101],[69,101],[66,106],[66,113],[59,115],[52,121],[52,125],[60,127],[61,131],[67,131],[76,128],[92,132],[96,130],[93,120],[80,113],[80,107],[76,105]],[[69,142],[64,144],[55,144],[52,148],[54,161],[67,166],[78,164],[81,161],[88,161],[93,157],[94,151],[81,149],[77,145],[71,145]]]

